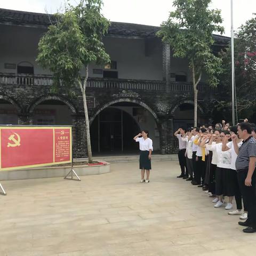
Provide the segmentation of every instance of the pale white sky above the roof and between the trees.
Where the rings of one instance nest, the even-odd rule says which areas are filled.
[[[76,5],[78,0],[70,0]],[[102,14],[110,21],[138,23],[159,26],[167,20],[173,10],[173,0],[103,0]],[[65,4],[65,0],[0,0],[0,8],[55,13]],[[256,13],[256,0],[233,0],[234,30]],[[212,0],[211,9],[220,9],[225,27],[225,36],[230,36],[230,0]]]

